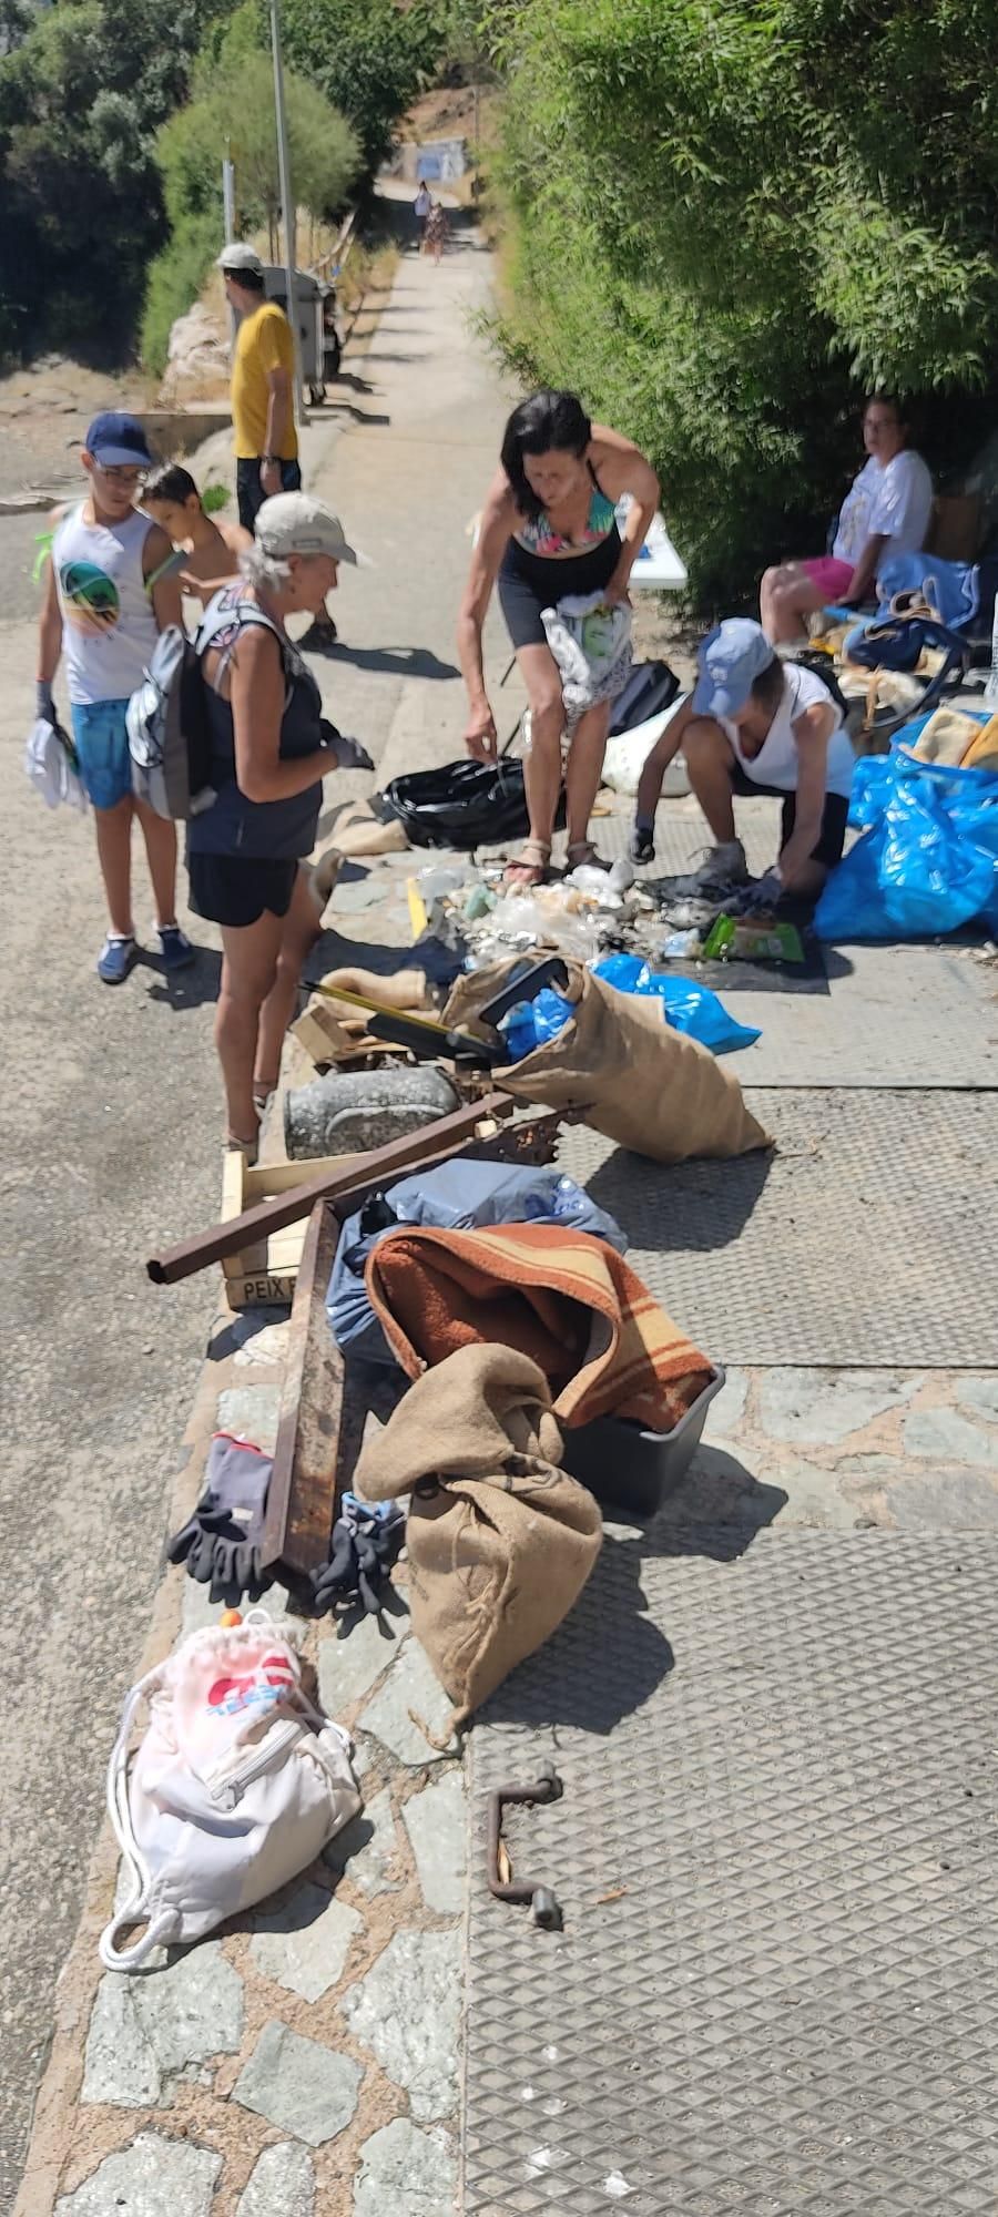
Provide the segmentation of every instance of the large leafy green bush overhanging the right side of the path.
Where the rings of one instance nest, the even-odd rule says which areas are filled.
[[[994,0],[486,4],[501,344],[523,384],[577,386],[648,448],[701,603],[823,543],[865,388],[923,397],[934,461],[989,401],[994,20]]]

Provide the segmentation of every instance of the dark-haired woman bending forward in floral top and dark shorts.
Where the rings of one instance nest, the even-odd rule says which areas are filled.
[[[625,532],[617,501],[630,494]],[[457,647],[468,687],[468,754],[497,756],[495,716],[481,665],[481,627],[492,590],[517,654],[530,703],[530,747],[523,763],[530,838],[510,880],[543,885],[561,794],[566,705],[541,610],[566,594],[601,592],[608,607],[628,601],[628,581],[659,505],[659,479],[630,439],[590,423],[574,392],[534,392],[512,410],[499,470],[488,490],[461,603]],[[610,701],[577,723],[563,769],[568,867],[599,860],[590,814],[603,769]]]

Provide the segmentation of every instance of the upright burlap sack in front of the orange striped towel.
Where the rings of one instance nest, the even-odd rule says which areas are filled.
[[[515,1348],[459,1348],[410,1386],[357,1461],[364,1501],[419,1488],[406,1530],[413,1629],[455,1725],[550,1638],[597,1561],[599,1508],[559,1454],[537,1363]]]

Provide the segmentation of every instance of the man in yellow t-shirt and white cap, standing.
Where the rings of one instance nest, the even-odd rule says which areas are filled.
[[[240,330],[233,355],[233,446],[240,523],[251,532],[273,492],[297,492],[295,341],[288,317],[264,295],[264,264],[233,242],[217,257]]]

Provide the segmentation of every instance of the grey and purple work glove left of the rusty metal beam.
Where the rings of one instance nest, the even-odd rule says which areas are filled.
[[[215,1432],[195,1514],[166,1541],[166,1561],[186,1563],[189,1579],[211,1585],[211,1601],[237,1607],[244,1594],[259,1601],[273,1585],[273,1572],[259,1567],[271,1470],[259,1448]]]

